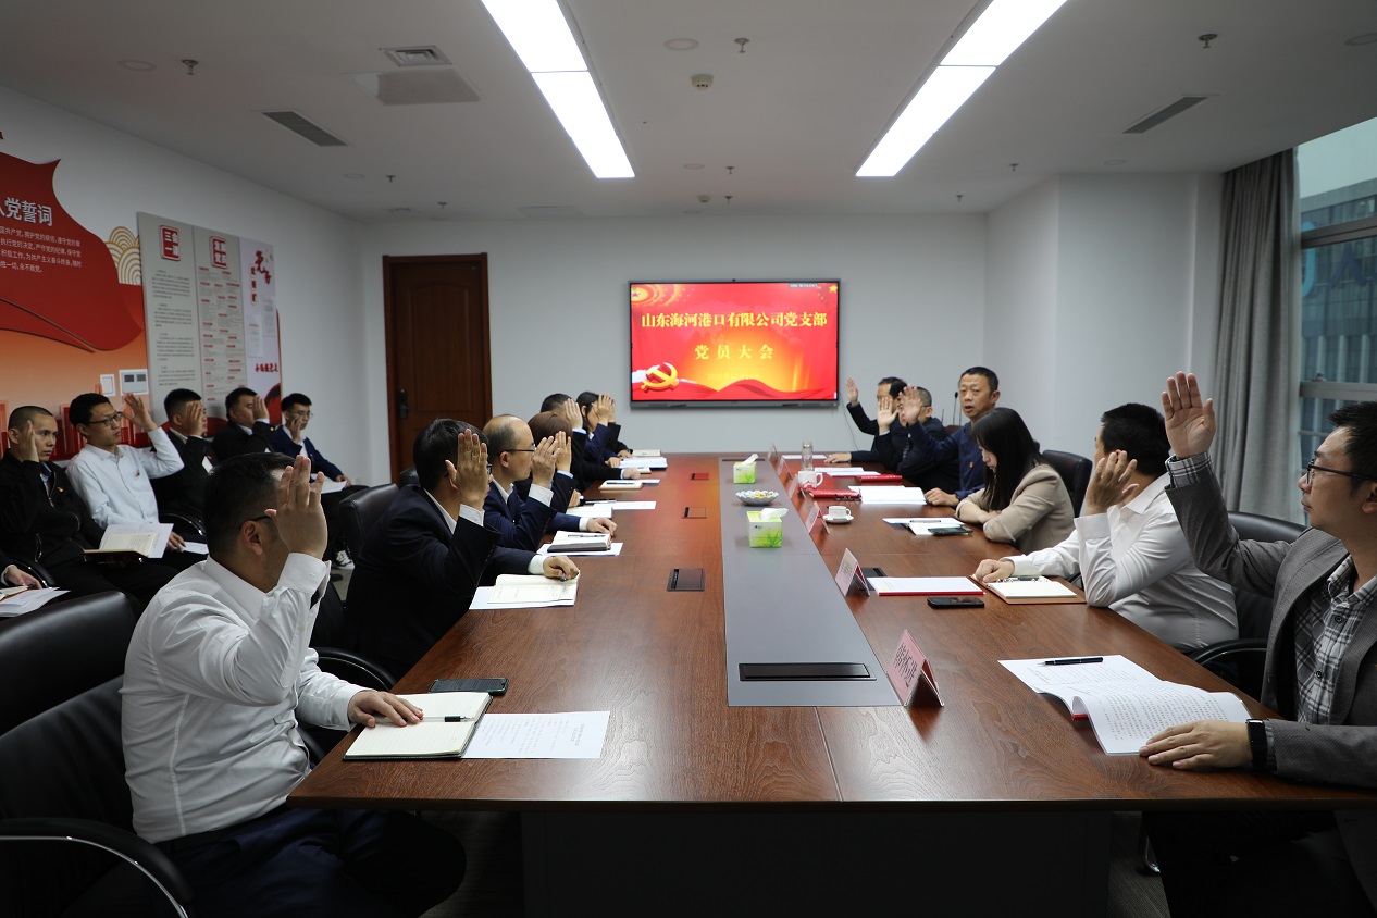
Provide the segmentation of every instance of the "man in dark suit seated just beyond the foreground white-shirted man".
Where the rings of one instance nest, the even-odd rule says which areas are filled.
[[[497,574],[578,575],[567,557],[497,546],[482,512],[487,445],[472,425],[432,421],[412,458],[420,484],[401,489],[368,534],[344,606],[353,643],[395,673],[424,657]]]

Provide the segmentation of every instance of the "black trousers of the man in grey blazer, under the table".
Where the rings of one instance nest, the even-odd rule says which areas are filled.
[[[1177,918],[1377,914],[1332,812],[1146,812],[1143,824]]]

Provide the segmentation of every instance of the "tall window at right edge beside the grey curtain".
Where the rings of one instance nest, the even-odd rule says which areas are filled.
[[[1300,464],[1340,405],[1377,399],[1377,118],[1297,150]]]

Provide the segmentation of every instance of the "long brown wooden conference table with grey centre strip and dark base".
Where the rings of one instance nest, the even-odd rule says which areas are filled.
[[[934,610],[832,582],[847,549],[891,577],[967,575],[1011,553],[979,530],[942,538],[883,522],[949,509],[855,502],[854,523],[810,535],[811,498],[781,495],[785,544],[752,549],[728,461],[671,456],[655,475],[617,495],[655,508],[616,513],[622,553],[578,559],[574,607],[470,612],[397,687],[504,676],[493,713],[607,710],[600,758],[346,762],[346,739],[289,802],[519,811],[530,915],[885,903],[1097,915],[1111,811],[1377,807],[1351,789],[1106,756],[1060,702],[998,663],[1124,654],[1161,679],[1230,691],[1113,611],[993,593],[983,608]],[[753,487],[785,490],[764,460]],[[669,592],[676,568],[702,568],[705,589]],[[890,688],[880,668],[905,630],[945,706],[903,707]],[[865,652],[870,683],[738,679],[739,662]]]

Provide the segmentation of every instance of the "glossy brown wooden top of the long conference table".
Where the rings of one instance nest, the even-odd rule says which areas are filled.
[[[691,480],[695,472],[708,480]],[[731,465],[671,456],[658,476],[661,484],[617,495],[653,500],[655,509],[616,513],[620,557],[577,559],[574,607],[468,612],[398,683],[423,692],[435,679],[505,676],[511,687],[492,713],[609,710],[602,758],[346,762],[346,739],[291,802],[485,811],[1377,805],[1358,790],[1106,756],[1060,702],[998,661],[1124,654],[1161,679],[1230,687],[1113,611],[1082,604],[1009,606],[986,593],[985,608],[934,610],[917,596],[852,596],[881,661],[909,630],[932,662],[945,707],[728,707],[717,506],[719,491],[734,487]],[[810,506],[795,498],[797,512]],[[686,508],[705,508],[706,517],[687,519]],[[881,520],[949,513],[856,504],[854,523],[826,534],[818,527],[818,563],[836,570],[851,549],[894,577],[965,575],[983,557],[1012,553],[979,531],[918,537]],[[666,592],[675,567],[705,568],[706,589]]]

